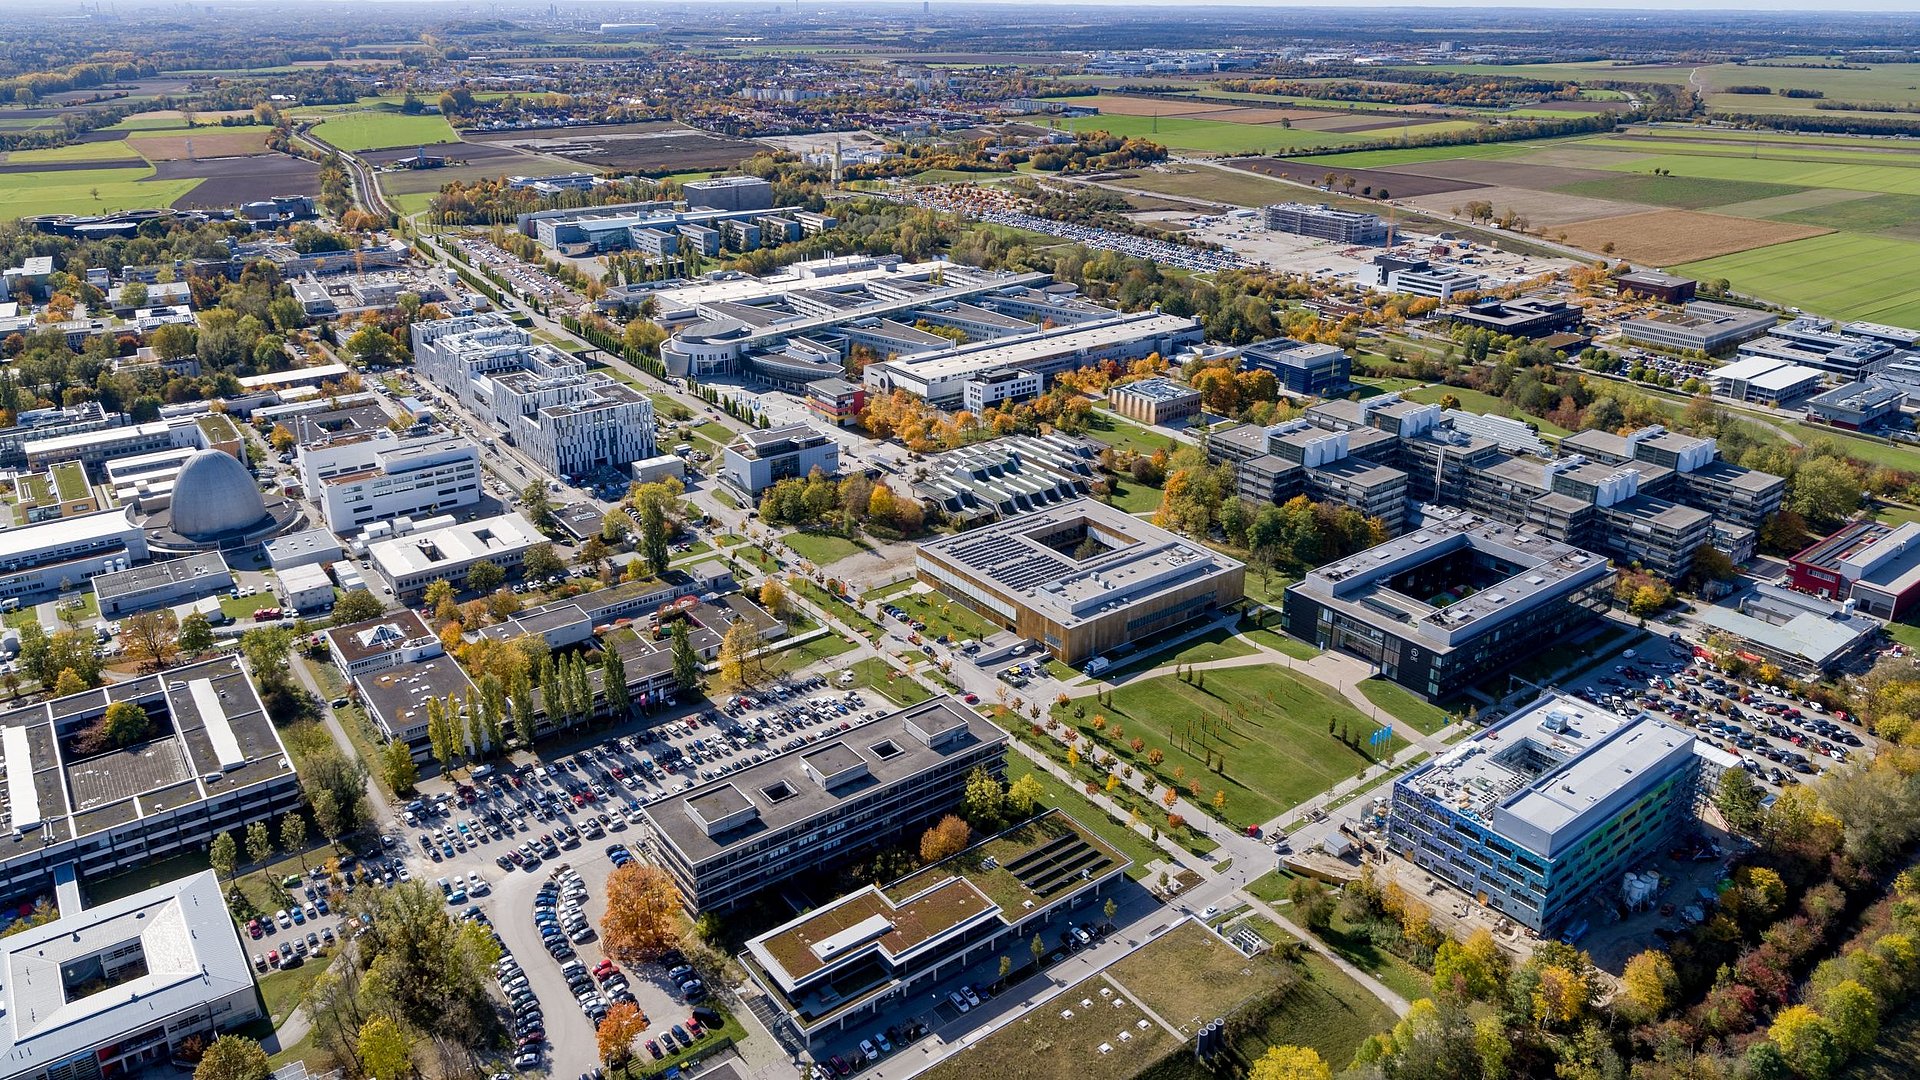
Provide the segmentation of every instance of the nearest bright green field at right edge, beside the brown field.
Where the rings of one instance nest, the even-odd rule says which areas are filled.
[[[1830,233],[1674,269],[1705,281],[1724,277],[1738,292],[1822,315],[1910,327],[1920,325],[1920,294],[1903,273],[1889,271],[1914,259],[1920,244],[1912,240]]]

